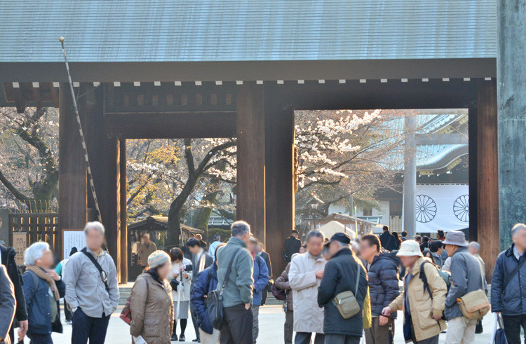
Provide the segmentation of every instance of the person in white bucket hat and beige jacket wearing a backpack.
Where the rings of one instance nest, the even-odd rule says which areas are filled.
[[[391,312],[403,309],[405,341],[438,344],[440,332],[447,328],[442,319],[447,284],[436,266],[424,258],[418,242],[405,240],[396,255],[406,269],[404,290],[382,315],[389,317]]]

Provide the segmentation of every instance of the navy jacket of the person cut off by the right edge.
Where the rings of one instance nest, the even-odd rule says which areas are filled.
[[[526,259],[522,254],[520,259]],[[513,254],[513,245],[497,257],[497,263],[492,277],[492,312],[502,312],[503,315],[526,315],[526,263],[513,276],[506,289],[504,281],[515,270],[519,261]]]

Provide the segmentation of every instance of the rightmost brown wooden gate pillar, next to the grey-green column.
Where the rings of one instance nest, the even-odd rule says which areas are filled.
[[[478,242],[491,279],[499,245],[499,158],[497,150],[497,82],[478,81],[477,172]],[[522,183],[523,184],[523,183]],[[516,187],[516,186],[514,186]]]

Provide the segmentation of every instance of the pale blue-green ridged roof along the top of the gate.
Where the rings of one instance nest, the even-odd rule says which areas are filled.
[[[0,62],[496,57],[496,0],[0,0]]]

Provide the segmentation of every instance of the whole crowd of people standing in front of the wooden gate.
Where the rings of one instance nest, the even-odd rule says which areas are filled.
[[[364,333],[367,344],[392,343],[398,316],[406,342],[436,344],[445,332],[445,343],[475,343],[490,309],[480,245],[461,231],[440,231],[434,240],[398,237],[387,226],[383,232],[358,240],[313,230],[303,243],[292,231],[283,252],[288,265],[276,282],[269,254],[245,221],[232,224],[227,243],[216,235],[208,250],[202,238],[191,238],[167,253],[144,236],[148,255],[140,257],[144,271],[129,298],[133,343],[183,342],[189,315],[194,342],[257,343],[259,308],[271,289],[283,291],[285,344],[357,344]],[[116,267],[102,249],[102,223],[87,223],[84,233],[86,247],[55,268],[49,245],[35,242],[25,250],[23,275],[14,250],[0,246],[0,343],[14,343],[15,328],[19,340],[53,343],[51,333],[62,332],[60,298],[72,343],[104,343],[119,302]],[[511,236],[494,266],[491,308],[508,343],[518,344],[526,327],[526,225],[513,226]]]

